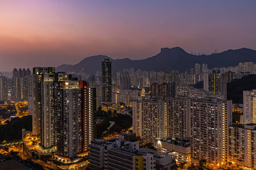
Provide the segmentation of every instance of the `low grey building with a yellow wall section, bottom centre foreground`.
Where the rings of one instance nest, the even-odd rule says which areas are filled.
[[[133,134],[120,134],[119,138],[95,139],[90,145],[91,169],[173,169],[175,162],[168,153],[139,148]],[[104,160],[104,161],[102,161]]]

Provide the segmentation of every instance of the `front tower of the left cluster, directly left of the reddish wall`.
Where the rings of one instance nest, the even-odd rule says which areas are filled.
[[[59,100],[57,152],[63,157],[76,157],[82,152],[81,89],[60,89]]]

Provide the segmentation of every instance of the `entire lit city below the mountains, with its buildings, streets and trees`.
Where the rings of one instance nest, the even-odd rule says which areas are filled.
[[[21,134],[0,131],[0,141],[23,141],[10,144],[8,153],[0,143],[0,161],[8,164],[19,153],[28,167],[28,158],[44,162],[47,156],[40,166],[255,169],[256,86],[248,86],[256,80],[254,62],[213,69],[196,63],[184,73],[113,73],[110,60],[101,64],[102,76],[55,67],[0,76],[1,129]]]

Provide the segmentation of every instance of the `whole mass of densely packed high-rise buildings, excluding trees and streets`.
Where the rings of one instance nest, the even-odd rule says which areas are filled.
[[[90,150],[93,169],[160,169],[178,163],[211,167],[231,162],[256,168],[256,90],[243,92],[241,124],[232,123],[227,83],[255,74],[253,62],[237,67],[208,69],[196,63],[179,71],[111,71],[102,61],[94,75],[58,73],[54,67],[13,69],[0,76],[0,101],[29,101],[33,136],[45,150],[74,159]],[[204,81],[204,89],[191,85]],[[95,139],[97,106],[132,106],[132,131],[141,145],[152,143],[159,152],[140,148],[134,134],[118,139]],[[165,155],[163,155],[164,153]]]

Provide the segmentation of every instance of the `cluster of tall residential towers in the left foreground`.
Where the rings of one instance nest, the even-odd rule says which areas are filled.
[[[40,145],[57,147],[57,154],[72,159],[88,150],[95,138],[96,89],[54,67],[34,67],[31,84],[33,134]]]

